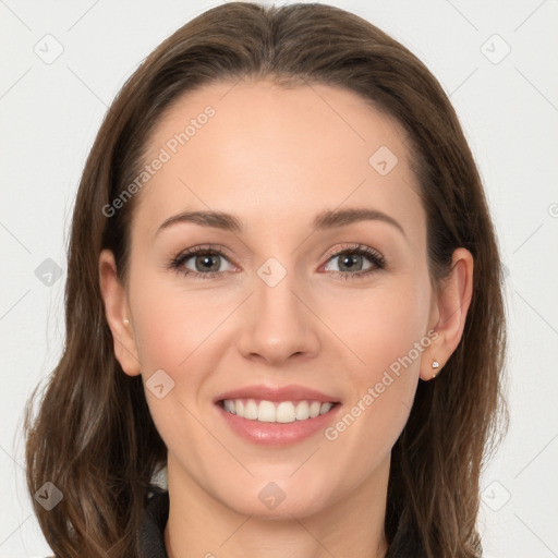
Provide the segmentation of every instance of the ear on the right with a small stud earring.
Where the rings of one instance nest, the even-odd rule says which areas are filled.
[[[471,252],[460,247],[453,252],[449,276],[441,283],[433,303],[430,329],[437,337],[423,353],[422,379],[433,379],[433,375],[441,371],[457,349],[463,335],[472,295],[473,256]],[[438,368],[432,367],[433,361],[438,361]]]

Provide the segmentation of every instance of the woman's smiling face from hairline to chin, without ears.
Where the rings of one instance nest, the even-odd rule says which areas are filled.
[[[385,489],[438,320],[404,142],[359,96],[323,85],[214,84],[160,122],[134,194],[137,365],[123,368],[147,383],[174,483],[258,515]],[[239,228],[169,221],[186,211]],[[296,389],[258,391],[286,386]],[[252,418],[216,403],[232,390]],[[304,421],[320,398],[337,404]]]

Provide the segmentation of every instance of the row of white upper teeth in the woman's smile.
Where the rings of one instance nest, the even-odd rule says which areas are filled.
[[[265,423],[293,423],[326,414],[333,403],[319,401],[255,401],[254,399],[225,399],[223,408],[232,414]]]

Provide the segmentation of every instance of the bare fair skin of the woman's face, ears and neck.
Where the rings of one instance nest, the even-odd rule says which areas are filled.
[[[161,399],[146,389],[168,448],[167,550],[171,558],[379,558],[387,549],[390,450],[417,381],[430,380],[432,361],[444,366],[459,343],[473,259],[457,250],[450,276],[433,288],[426,215],[393,120],[342,88],[231,86],[184,96],[155,130],[146,161],[207,105],[216,110],[136,194],[129,283],[118,281],[109,251],[99,258],[123,372],[146,381],[162,368],[174,381]],[[379,146],[399,159],[386,175],[368,162]],[[312,232],[318,213],[340,207],[380,210],[404,234],[381,220]],[[234,214],[245,231],[183,222],[155,235],[186,208]],[[385,268],[351,277],[332,256],[348,243],[379,252]],[[204,244],[227,251],[214,256],[220,277],[168,268],[179,253]],[[287,271],[275,287],[257,275],[269,257]],[[204,272],[195,257],[184,266]],[[354,270],[371,267],[363,256]],[[436,340],[335,440],[320,432],[288,447],[256,446],[234,434],[211,402],[253,384],[300,384],[336,395],[342,416],[429,330]],[[269,482],[286,496],[274,510],[258,498]]]

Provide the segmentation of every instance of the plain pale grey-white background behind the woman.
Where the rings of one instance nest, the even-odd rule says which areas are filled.
[[[85,158],[142,59],[218,3],[0,0],[1,557],[49,553],[24,485],[22,412],[62,350],[65,245]],[[417,54],[465,130],[508,270],[510,328],[511,424],[483,475],[480,529],[487,557],[556,557],[557,2],[328,3]]]

